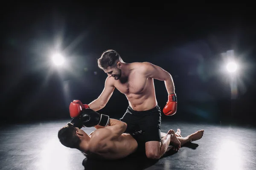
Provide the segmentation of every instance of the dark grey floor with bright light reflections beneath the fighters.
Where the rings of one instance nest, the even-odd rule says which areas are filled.
[[[185,122],[162,122],[162,131],[180,128],[187,136],[204,129],[202,139],[158,161],[126,158],[89,160],[61,145],[57,133],[67,121],[1,126],[0,170],[255,170],[256,129]],[[83,128],[87,133],[94,130]]]

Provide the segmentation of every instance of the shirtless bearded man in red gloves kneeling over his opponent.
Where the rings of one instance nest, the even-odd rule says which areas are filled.
[[[157,104],[154,79],[165,83],[169,95],[163,113],[171,116],[177,111],[172,76],[149,62],[125,63],[114,50],[105,51],[98,59],[98,66],[108,74],[102,93],[89,105],[83,105],[78,100],[73,104],[79,103],[81,107],[99,111],[105,107],[114,89],[118,89],[125,94],[129,103],[127,111],[120,119],[128,125],[125,133],[142,130],[145,133],[146,156],[150,159],[159,159],[166,152],[164,148],[168,144],[166,141],[161,142],[161,110]],[[73,113],[70,112],[71,115]]]

